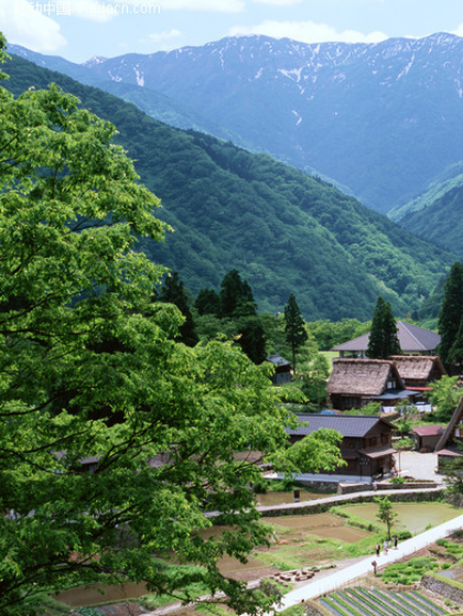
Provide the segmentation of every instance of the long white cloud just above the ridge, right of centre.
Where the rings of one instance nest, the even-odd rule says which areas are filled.
[[[263,21],[254,26],[234,26],[229,33],[232,36],[265,34],[272,39],[293,39],[303,43],[379,43],[388,39],[384,32],[369,32],[368,34],[356,30],[337,32],[331,25],[313,21]]]

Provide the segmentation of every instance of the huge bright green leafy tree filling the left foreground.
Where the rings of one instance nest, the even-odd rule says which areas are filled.
[[[173,595],[201,582],[239,613],[268,608],[217,568],[267,537],[248,489],[259,469],[234,454],[334,469],[338,435],[288,449],[295,419],[266,368],[230,343],[172,339],[180,311],[152,302],[164,269],[134,250],[162,238],[159,201],[111,125],[51,86],[18,99],[0,88],[0,614],[140,580]],[[95,419],[101,409],[119,420]],[[234,532],[205,539],[207,509]]]

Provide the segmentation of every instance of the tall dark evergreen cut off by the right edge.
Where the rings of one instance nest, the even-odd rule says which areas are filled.
[[[444,295],[439,314],[438,332],[441,335],[439,355],[444,366],[451,368],[451,350],[457,337],[463,316],[463,266],[456,261],[450,270],[444,285]],[[460,356],[456,347],[452,357]]]

